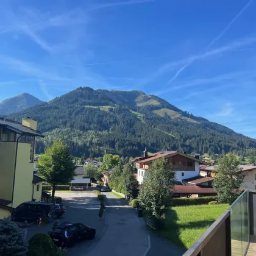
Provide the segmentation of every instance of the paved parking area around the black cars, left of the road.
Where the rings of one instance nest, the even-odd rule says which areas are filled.
[[[98,243],[104,229],[104,221],[99,221],[99,201],[93,191],[74,191],[74,193],[56,193],[56,196],[63,198],[63,204],[66,205],[66,215],[59,218],[59,223],[65,221],[81,222],[85,225],[94,227],[96,229],[96,236],[94,240],[81,241],[68,248],[67,255],[84,255],[88,247]],[[104,216],[105,217],[105,216]],[[27,229],[27,240],[35,233],[47,233],[51,230],[53,222],[45,226],[29,226]]]

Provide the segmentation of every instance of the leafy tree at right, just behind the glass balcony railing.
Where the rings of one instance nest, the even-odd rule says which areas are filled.
[[[215,166],[216,176],[213,187],[217,191],[218,201],[221,203],[232,204],[240,194],[238,189],[244,176],[239,164],[240,161],[233,153],[218,159],[218,165]]]

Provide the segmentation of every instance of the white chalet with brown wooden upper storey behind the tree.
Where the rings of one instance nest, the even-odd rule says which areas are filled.
[[[133,160],[133,164],[137,171],[137,180],[140,185],[143,183],[143,180],[146,177],[146,171],[151,163],[162,157],[172,163],[172,167],[176,171],[177,182],[182,182],[184,179],[199,176],[200,164],[205,165],[205,162],[201,161],[197,155],[196,157],[191,157],[190,155],[185,154],[185,152],[182,153],[176,151],[160,151],[156,154],[148,155],[148,152],[145,150],[143,157],[137,157]]]

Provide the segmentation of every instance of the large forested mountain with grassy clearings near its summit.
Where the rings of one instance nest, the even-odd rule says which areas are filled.
[[[108,91],[79,87],[49,102],[27,108],[9,118],[31,116],[46,136],[38,139],[43,152],[62,137],[74,155],[85,153],[127,156],[163,149],[221,154],[246,154],[256,141],[205,118],[182,111],[169,102],[142,91]]]

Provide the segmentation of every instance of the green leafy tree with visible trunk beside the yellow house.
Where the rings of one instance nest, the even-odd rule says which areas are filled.
[[[76,176],[74,158],[69,148],[58,138],[51,148],[46,148],[38,161],[37,170],[40,176],[52,185],[52,202],[54,202],[57,185],[69,183]]]

